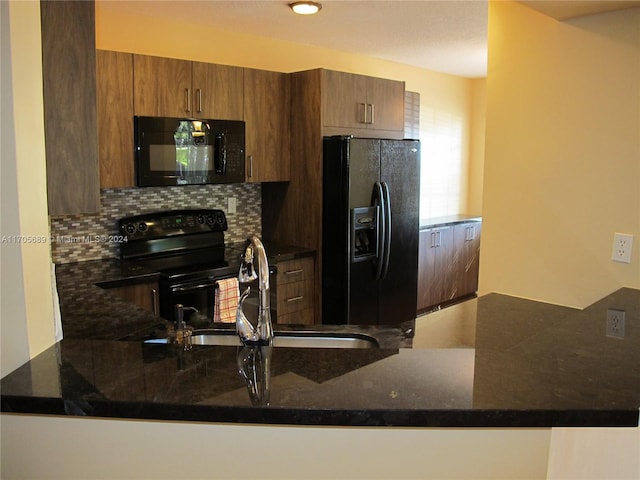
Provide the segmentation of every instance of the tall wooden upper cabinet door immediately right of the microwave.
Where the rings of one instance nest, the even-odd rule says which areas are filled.
[[[284,73],[244,70],[248,182],[289,180],[289,90]]]

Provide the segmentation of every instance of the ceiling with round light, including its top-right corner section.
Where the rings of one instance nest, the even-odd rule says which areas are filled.
[[[292,1],[292,0],[291,0]],[[98,0],[100,7],[309,44],[469,78],[486,76],[486,0],[316,0],[317,15],[287,0]],[[523,1],[559,20],[640,1]]]

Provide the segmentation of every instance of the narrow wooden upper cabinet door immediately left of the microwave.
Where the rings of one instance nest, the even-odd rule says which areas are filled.
[[[133,187],[133,55],[98,50],[96,84],[100,187]]]

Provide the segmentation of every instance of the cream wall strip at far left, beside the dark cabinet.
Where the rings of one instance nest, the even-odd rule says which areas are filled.
[[[38,2],[2,8],[2,375],[55,341]]]

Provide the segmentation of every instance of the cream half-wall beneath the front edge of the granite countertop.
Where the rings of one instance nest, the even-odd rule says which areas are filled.
[[[550,438],[548,429],[323,428],[2,415],[2,478],[542,480]]]

